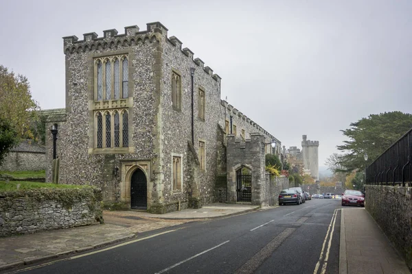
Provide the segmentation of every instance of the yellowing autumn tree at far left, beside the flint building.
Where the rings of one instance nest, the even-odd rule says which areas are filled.
[[[34,138],[30,127],[37,120],[38,109],[27,78],[0,65],[0,119],[8,121],[19,137]]]

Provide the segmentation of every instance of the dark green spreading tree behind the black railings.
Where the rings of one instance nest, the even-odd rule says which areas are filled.
[[[338,146],[345,153],[341,155],[339,171],[365,169],[365,153],[369,157],[368,163],[376,160],[411,127],[412,114],[398,111],[370,114],[367,118],[351,123],[349,129],[341,130],[349,140]]]

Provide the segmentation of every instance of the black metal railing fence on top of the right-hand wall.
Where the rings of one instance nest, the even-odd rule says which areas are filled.
[[[397,140],[366,169],[366,184],[411,185],[412,129]]]

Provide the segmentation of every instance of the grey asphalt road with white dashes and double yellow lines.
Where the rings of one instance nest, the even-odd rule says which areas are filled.
[[[339,200],[312,199],[187,223],[21,272],[338,273],[339,208]]]

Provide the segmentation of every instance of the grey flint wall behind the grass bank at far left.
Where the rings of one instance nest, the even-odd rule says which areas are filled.
[[[46,167],[45,153],[10,151],[0,171],[41,171]]]

